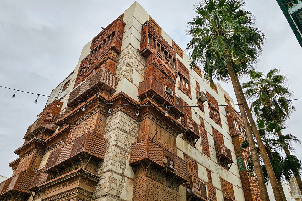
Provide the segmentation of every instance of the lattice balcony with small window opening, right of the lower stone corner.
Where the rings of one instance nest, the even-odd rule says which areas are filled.
[[[174,165],[166,165],[165,158],[173,161]],[[142,163],[167,170],[167,174],[175,176],[178,180],[188,181],[188,163],[149,137],[131,145],[130,165],[136,166]]]

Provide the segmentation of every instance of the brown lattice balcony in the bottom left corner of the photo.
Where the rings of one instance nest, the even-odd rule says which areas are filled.
[[[20,172],[0,184],[0,196],[11,193],[31,194],[29,187],[33,180],[32,175]],[[5,199],[6,200],[6,199]]]

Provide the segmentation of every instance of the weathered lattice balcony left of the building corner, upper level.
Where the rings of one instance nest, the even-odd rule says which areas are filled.
[[[104,93],[104,90],[113,93],[117,89],[117,77],[102,68],[94,76],[90,77],[76,89],[74,89],[69,96],[67,105],[74,108],[82,103],[83,100],[87,100],[96,93]],[[81,102],[78,102],[80,100]]]

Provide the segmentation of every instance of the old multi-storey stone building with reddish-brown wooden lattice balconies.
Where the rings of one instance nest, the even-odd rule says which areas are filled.
[[[261,200],[233,100],[137,2],[50,96],[2,200]]]

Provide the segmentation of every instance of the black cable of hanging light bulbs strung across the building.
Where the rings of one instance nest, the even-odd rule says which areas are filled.
[[[23,93],[30,93],[30,94],[34,94],[34,95],[38,95],[39,96],[45,96],[45,97],[49,97],[49,98],[57,98],[55,96],[47,96],[47,95],[42,95],[42,94],[37,94],[37,93],[31,93],[31,92],[27,92],[27,91],[22,91],[22,90],[16,90],[16,89],[12,89],[12,88],[9,88],[9,87],[5,87],[5,86],[0,86],[2,88],[5,88],[5,89],[10,89],[10,90],[14,90],[16,92],[20,91],[20,92],[23,92]],[[16,94],[14,93],[14,95],[12,96],[12,98],[15,96]],[[61,100],[70,100],[70,101],[78,101],[78,102],[91,102],[91,103],[100,103],[100,104],[110,104],[111,106],[112,105],[128,105],[128,106],[137,106],[135,104],[118,104],[118,103],[108,103],[108,102],[95,102],[95,101],[84,101],[84,100],[76,100],[76,99],[67,99],[67,98],[61,98]],[[277,102],[284,102],[284,101],[293,101],[293,100],[302,100],[302,98],[300,99],[292,99],[292,100],[280,100],[280,101],[277,101]],[[38,99],[35,100],[35,104],[37,103]],[[272,102],[275,102],[275,101],[270,101],[270,102],[262,102],[261,104],[265,104],[265,103],[272,103]],[[247,103],[247,104],[232,104],[233,105],[252,105],[252,104],[260,104],[260,103]],[[146,107],[158,107],[158,105],[144,105]],[[208,107],[209,105],[203,105],[204,107]],[[229,105],[211,105],[211,106],[229,106]],[[189,105],[182,105],[182,106],[178,106],[178,105],[175,105],[175,106],[164,106],[164,107],[182,107],[182,108],[185,108],[185,107],[195,107],[195,106],[189,106]],[[197,106],[198,107],[198,106]],[[292,109],[293,111],[296,111],[296,108],[292,105]],[[110,109],[109,109],[110,110]],[[110,110],[111,111],[111,110]],[[166,110],[167,111],[167,110]],[[259,112],[262,111],[261,109],[259,109]],[[108,111],[108,113],[111,113]],[[167,112],[168,113],[168,112]],[[262,113],[263,114],[263,111]]]

